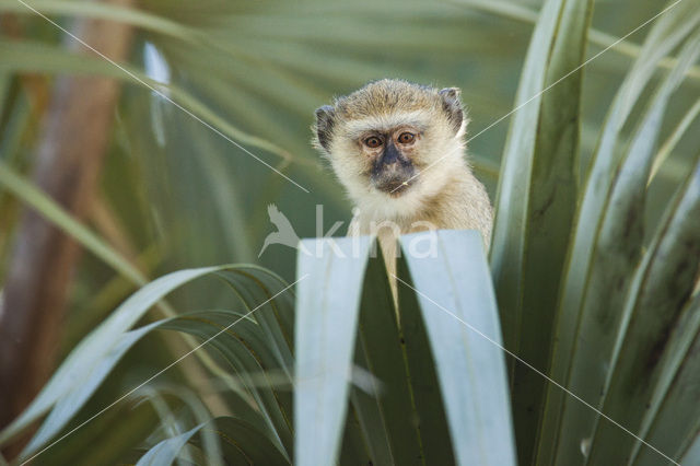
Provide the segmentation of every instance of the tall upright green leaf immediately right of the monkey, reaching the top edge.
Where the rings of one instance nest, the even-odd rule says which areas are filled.
[[[542,7],[499,182],[491,266],[505,343],[539,370],[549,362],[546,342],[551,340],[576,203],[581,66],[592,8],[593,1],[586,0],[553,0]],[[520,459],[527,464],[547,382],[524,364],[512,361],[511,368]]]

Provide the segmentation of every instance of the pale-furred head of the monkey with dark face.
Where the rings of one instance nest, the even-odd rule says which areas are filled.
[[[466,123],[458,89],[381,80],[318,108],[314,144],[355,205],[386,210],[429,198],[466,165]]]

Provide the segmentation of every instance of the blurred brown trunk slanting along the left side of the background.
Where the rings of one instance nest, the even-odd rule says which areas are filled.
[[[112,3],[130,5],[131,0]],[[77,22],[74,34],[116,61],[128,56],[131,31],[101,20]],[[93,54],[77,45],[75,50]],[[106,78],[57,79],[39,136],[33,178],[79,219],[91,199],[112,133],[119,93]],[[56,361],[57,345],[78,245],[26,209],[16,230],[0,310],[0,427],[38,393]]]

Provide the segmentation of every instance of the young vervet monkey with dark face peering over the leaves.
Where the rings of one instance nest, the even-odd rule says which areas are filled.
[[[493,212],[466,161],[457,88],[374,81],[316,110],[314,145],[354,203],[348,234],[376,234],[396,299],[396,238],[428,229],[478,230]]]

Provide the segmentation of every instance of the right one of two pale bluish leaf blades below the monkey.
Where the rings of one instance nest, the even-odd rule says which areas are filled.
[[[411,256],[420,235],[434,235],[433,257]],[[401,284],[419,296],[457,464],[515,465],[501,328],[479,233],[417,233],[400,243],[410,273]]]

